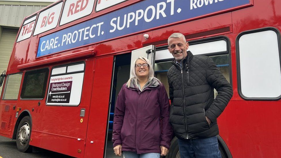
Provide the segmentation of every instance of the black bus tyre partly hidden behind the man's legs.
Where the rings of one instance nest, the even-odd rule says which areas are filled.
[[[221,152],[221,157],[227,158],[226,153],[220,144],[219,144],[219,150]],[[179,152],[178,138],[174,137],[171,141],[170,150],[169,150],[166,158],[180,158],[180,157],[181,157],[181,155]]]

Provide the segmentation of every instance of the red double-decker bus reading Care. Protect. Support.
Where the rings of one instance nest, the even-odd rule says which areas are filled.
[[[279,157],[278,0],[60,0],[28,16],[0,77],[0,135],[73,157],[114,157],[117,94],[148,57],[166,86],[167,39],[181,32],[234,94],[218,118],[222,157]],[[215,96],[214,96],[215,97]],[[179,156],[173,138],[166,157]]]

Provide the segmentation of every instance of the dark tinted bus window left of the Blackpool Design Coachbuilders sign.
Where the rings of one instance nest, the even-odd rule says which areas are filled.
[[[21,99],[43,99],[46,92],[49,69],[27,71],[24,74]]]

